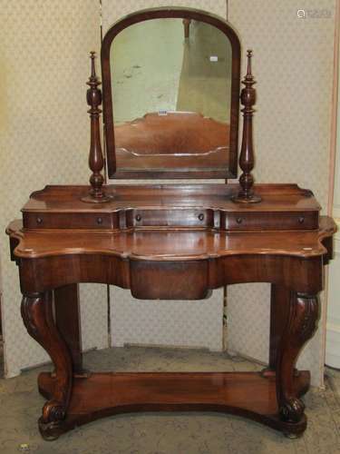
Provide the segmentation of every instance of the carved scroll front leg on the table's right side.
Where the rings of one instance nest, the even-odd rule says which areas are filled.
[[[290,299],[287,302],[289,304],[287,325],[282,332],[277,351],[277,403],[280,418],[291,423],[292,433],[299,433],[305,427],[301,429],[296,427],[295,431],[294,425],[303,422],[305,405],[297,397],[294,367],[300,350],[316,331],[319,302],[317,295],[293,291],[290,292]]]

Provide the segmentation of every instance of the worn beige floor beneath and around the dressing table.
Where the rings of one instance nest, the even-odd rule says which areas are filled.
[[[141,347],[91,351],[92,370],[258,370],[257,364],[207,350]],[[147,413],[92,422],[56,441],[41,439],[36,419],[44,399],[36,376],[48,366],[0,380],[0,452],[38,454],[335,454],[340,453],[340,372],[327,370],[326,389],[306,395],[308,428],[301,439],[247,419],[214,413]]]

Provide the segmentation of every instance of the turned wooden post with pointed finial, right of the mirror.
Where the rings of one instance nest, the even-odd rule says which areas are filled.
[[[253,147],[253,105],[256,102],[256,90],[253,85],[256,84],[253,74],[251,74],[251,57],[253,52],[248,50],[248,67],[247,74],[242,81],[245,87],[241,91],[241,103],[244,105],[243,113],[243,135],[241,153],[239,155],[239,167],[242,174],[239,177],[241,186],[238,195],[232,197],[233,202],[256,203],[261,202],[261,197],[256,195],[252,189],[254,178],[251,171],[254,168],[254,147]]]

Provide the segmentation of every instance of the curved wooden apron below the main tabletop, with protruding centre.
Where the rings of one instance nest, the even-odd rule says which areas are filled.
[[[148,260],[104,253],[17,258],[24,294],[75,282],[131,289],[141,300],[199,300],[224,285],[270,282],[315,294],[323,288],[323,256],[245,253],[189,260]]]

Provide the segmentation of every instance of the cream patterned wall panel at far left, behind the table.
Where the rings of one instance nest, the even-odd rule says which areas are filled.
[[[100,48],[98,2],[0,0],[0,259],[7,377],[47,359],[24,329],[5,227],[31,192],[87,183],[88,53]],[[106,287],[83,286],[83,347],[107,345]]]

